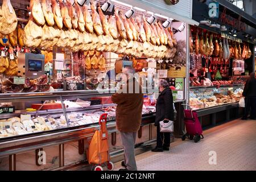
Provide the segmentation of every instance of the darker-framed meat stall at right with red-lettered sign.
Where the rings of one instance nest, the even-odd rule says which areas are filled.
[[[208,3],[193,1],[193,19],[200,25],[191,26],[189,36],[188,101],[205,127],[240,117],[238,102],[254,72],[256,19],[217,2],[219,13],[209,17]]]

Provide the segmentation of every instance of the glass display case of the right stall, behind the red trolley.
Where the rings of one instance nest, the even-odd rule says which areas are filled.
[[[189,91],[189,106],[193,110],[199,110],[233,104],[240,101],[242,92],[243,85],[191,87]]]

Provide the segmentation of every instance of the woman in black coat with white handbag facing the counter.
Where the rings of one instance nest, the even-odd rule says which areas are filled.
[[[170,134],[160,133],[159,122],[163,120],[174,120],[174,105],[172,98],[172,91],[169,88],[169,84],[166,80],[159,81],[158,100],[156,101],[156,119],[155,126],[157,127],[156,147],[152,152],[163,152],[163,150],[169,150],[170,147]]]

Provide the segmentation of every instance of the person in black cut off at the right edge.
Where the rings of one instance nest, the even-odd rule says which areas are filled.
[[[245,97],[245,110],[243,113],[243,120],[247,119],[250,112],[250,119],[256,119],[256,78],[255,73],[250,74],[250,78],[246,81],[243,89],[243,97]]]

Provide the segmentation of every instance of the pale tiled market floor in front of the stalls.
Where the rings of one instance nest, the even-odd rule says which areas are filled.
[[[138,170],[256,170],[256,121],[236,120],[204,131],[199,143],[177,139],[171,150],[136,156]],[[209,164],[215,151],[217,164]],[[120,162],[115,169],[121,168]]]

